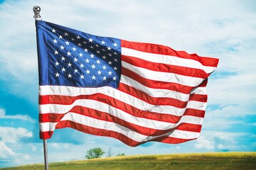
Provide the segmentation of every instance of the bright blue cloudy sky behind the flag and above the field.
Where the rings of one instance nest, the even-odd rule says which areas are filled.
[[[197,140],[128,147],[110,137],[65,128],[48,140],[49,162],[85,159],[94,147],[112,156],[256,151],[256,1],[1,0],[0,168],[43,164],[32,10],[36,5],[44,21],[220,59],[208,81],[208,106]]]

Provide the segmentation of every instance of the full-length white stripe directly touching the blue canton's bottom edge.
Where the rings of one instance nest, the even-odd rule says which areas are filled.
[[[166,113],[171,115],[183,115],[186,108],[194,108],[205,111],[206,103],[200,101],[188,101],[186,108],[176,108],[174,106],[159,106],[151,105],[145,101],[135,98],[122,91],[114,89],[112,87],[99,87],[99,88],[79,88],[71,86],[39,86],[39,95],[63,95],[63,96],[77,96],[77,95],[90,95],[90,94],[105,94],[112,98],[116,98],[123,103],[127,103],[135,108],[139,108],[142,111],[151,111],[156,113]],[[75,101],[78,103],[79,101]],[[75,106],[73,103],[73,106]],[[110,103],[111,104],[111,103]]]

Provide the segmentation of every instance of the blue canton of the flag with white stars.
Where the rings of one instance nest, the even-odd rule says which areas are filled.
[[[118,87],[119,39],[90,35],[45,21],[36,21],[36,28],[40,85]]]

